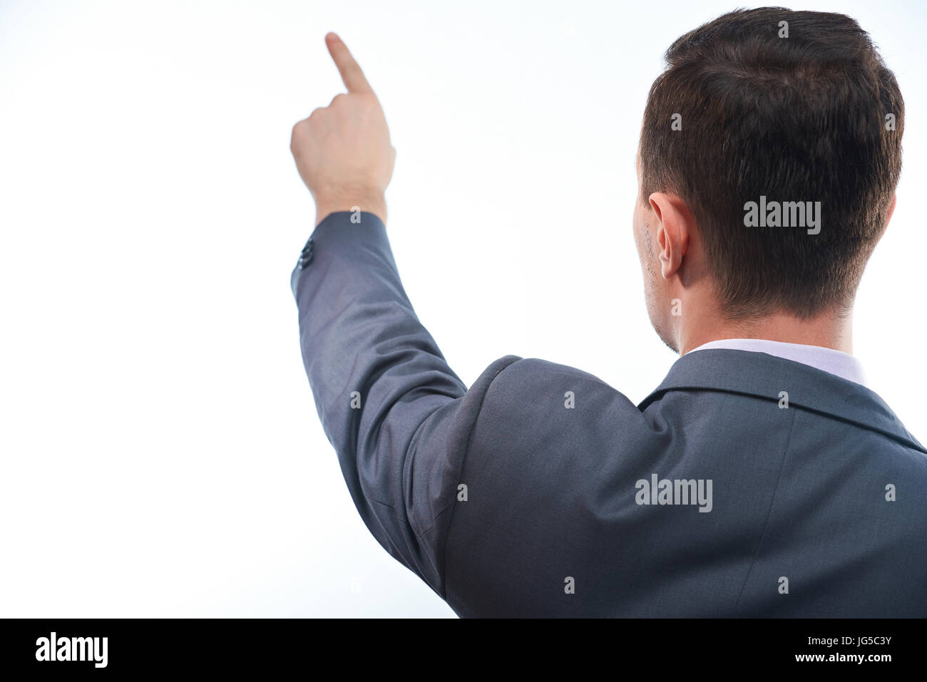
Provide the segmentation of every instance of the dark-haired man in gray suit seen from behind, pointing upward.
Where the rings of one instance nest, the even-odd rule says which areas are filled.
[[[853,19],[740,10],[667,51],[633,229],[679,360],[634,405],[496,360],[469,390],[385,223],[394,150],[347,86],[294,127],[317,226],[302,357],[364,523],[462,616],[927,616],[927,457],[851,352],[895,208],[904,104]]]

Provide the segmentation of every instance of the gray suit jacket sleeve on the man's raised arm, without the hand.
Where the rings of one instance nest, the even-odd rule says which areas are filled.
[[[468,391],[418,321],[386,227],[330,214],[290,284],[316,410],[351,498],[377,541],[445,597],[444,545],[483,397],[515,360]]]

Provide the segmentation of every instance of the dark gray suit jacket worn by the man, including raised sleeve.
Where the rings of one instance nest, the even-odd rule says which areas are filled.
[[[350,215],[291,278],[306,373],[364,523],[456,613],[927,616],[927,450],[869,389],[711,349],[640,405],[515,356],[467,390]]]

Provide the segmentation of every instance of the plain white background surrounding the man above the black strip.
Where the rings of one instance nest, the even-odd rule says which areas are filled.
[[[363,526],[299,356],[288,145],[343,90],[324,33],[387,112],[394,253],[464,382],[514,353],[639,401],[675,360],[630,233],[645,96],[734,6],[0,3],[0,615],[452,616]],[[813,8],[907,103],[855,349],[925,439],[925,9]]]

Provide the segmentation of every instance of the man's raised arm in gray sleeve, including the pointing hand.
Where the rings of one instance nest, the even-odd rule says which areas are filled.
[[[348,95],[293,131],[318,224],[291,284],[316,409],[351,497],[389,553],[445,597],[444,548],[471,431],[497,360],[467,391],[418,321],[387,240],[394,152],[348,48],[326,37]]]

